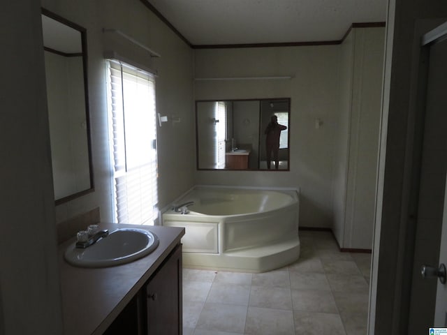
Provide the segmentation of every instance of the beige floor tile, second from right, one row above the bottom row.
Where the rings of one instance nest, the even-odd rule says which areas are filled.
[[[338,313],[330,291],[292,290],[292,302],[296,311]]]

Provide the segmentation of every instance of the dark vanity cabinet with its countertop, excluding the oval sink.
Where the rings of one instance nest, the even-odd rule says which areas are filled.
[[[160,244],[133,262],[90,269],[64,260],[73,238],[59,244],[64,334],[182,334],[184,228],[116,223],[101,223],[101,228],[147,229]]]

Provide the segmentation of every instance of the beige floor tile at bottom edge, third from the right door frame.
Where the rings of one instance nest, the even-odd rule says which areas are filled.
[[[293,335],[293,313],[284,309],[249,307],[247,335]]]

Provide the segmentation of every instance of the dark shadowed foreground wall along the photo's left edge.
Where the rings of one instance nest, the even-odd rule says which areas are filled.
[[[1,7],[0,334],[62,334],[41,9]]]

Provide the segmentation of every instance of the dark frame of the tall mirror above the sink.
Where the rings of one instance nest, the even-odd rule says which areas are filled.
[[[90,112],[89,112],[89,89],[88,89],[88,70],[87,70],[87,29],[84,27],[81,27],[78,24],[75,24],[69,20],[66,20],[64,17],[61,17],[55,13],[52,13],[50,10],[47,10],[45,8],[41,8],[41,15],[45,15],[47,17],[52,18],[53,20],[56,20],[60,22],[61,24],[65,24],[68,27],[71,27],[81,34],[81,44],[82,44],[82,69],[83,69],[83,77],[84,77],[84,96],[85,96],[85,122],[86,122],[86,135],[87,135],[87,150],[88,150],[88,158],[89,158],[89,181],[90,181],[90,187],[70,194],[66,195],[63,198],[54,200],[55,204],[63,204],[65,202],[71,201],[76,198],[82,197],[82,195],[86,195],[88,193],[92,193],[95,191],[94,188],[94,174],[93,174],[93,163],[91,158],[91,130],[90,130]],[[43,46],[43,51],[47,50],[45,48],[45,45]]]

